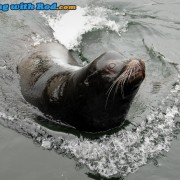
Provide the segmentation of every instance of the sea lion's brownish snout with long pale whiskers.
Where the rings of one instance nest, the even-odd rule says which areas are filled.
[[[111,62],[112,63],[112,62]],[[139,86],[145,78],[145,63],[141,59],[130,59],[128,61],[117,60],[114,64],[109,63],[113,76],[110,73],[110,87],[108,88],[108,97],[112,92],[117,99],[124,99],[128,96],[134,96]],[[109,98],[108,98],[109,99]]]

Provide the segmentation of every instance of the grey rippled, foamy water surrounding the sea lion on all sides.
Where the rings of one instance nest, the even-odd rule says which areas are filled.
[[[13,132],[1,127],[2,137],[15,136],[10,143],[15,151],[9,149],[9,140],[4,138],[1,144],[5,149],[0,155],[8,158],[9,153],[13,157],[19,152],[26,161],[18,163],[19,156],[14,155],[12,162],[18,163],[19,168],[13,168],[4,166],[4,158],[0,177],[8,178],[9,171],[11,177],[14,172],[14,179],[30,179],[32,174],[34,179],[50,176],[51,179],[74,179],[75,176],[77,179],[178,179],[180,2],[111,0],[78,1],[76,4],[76,11],[60,14],[0,14],[3,27],[0,29],[0,123],[61,154],[43,151],[30,140],[25,153],[21,145],[26,139],[11,135]],[[50,41],[61,42],[80,63],[88,63],[111,49],[121,52],[127,59],[138,57],[145,60],[146,79],[128,113],[130,125],[121,131],[93,138],[66,129],[53,131],[52,124],[41,123],[48,129],[37,124],[37,118],[43,119],[43,114],[23,99],[16,64],[32,46]],[[35,164],[33,169],[26,164],[36,161],[34,151],[41,157],[38,162],[43,165]],[[54,163],[53,158],[60,160]],[[66,173],[62,177],[64,170],[58,171],[59,167],[66,167],[73,174]],[[47,169],[49,176],[46,176]]]

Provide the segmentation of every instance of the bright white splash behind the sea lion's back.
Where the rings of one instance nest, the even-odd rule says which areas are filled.
[[[108,29],[116,32],[119,36],[127,31],[128,22],[122,17],[120,23],[109,19],[109,15],[114,13],[102,7],[81,8],[76,11],[69,11],[64,15],[58,14],[57,17],[50,17],[41,13],[54,30],[54,37],[67,49],[78,50],[82,41],[83,34],[94,30]]]

